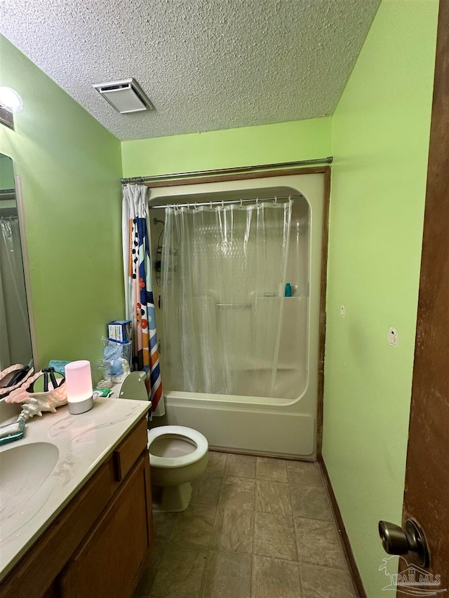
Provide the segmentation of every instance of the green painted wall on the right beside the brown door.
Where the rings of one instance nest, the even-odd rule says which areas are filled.
[[[323,457],[369,598],[401,522],[437,11],[382,1],[333,116]]]

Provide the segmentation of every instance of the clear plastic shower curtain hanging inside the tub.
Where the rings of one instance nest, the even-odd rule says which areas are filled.
[[[166,208],[162,358],[170,390],[276,396],[291,201]]]

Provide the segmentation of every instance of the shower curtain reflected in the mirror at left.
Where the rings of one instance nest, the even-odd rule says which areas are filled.
[[[0,370],[32,359],[17,217],[0,217]]]

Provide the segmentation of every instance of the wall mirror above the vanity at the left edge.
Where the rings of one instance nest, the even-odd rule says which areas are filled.
[[[0,370],[32,360],[13,161],[0,154]]]

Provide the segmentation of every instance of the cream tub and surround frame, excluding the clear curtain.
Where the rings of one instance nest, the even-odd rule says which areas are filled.
[[[327,173],[328,171],[326,171]],[[211,194],[217,201],[229,198],[236,193],[240,198],[281,197],[302,195],[307,200],[307,217],[300,212],[294,236],[299,235],[299,228],[304,220],[309,222],[308,256],[304,262],[293,260],[288,271],[288,280],[306,280],[307,289],[302,290],[302,305],[297,297],[282,299],[288,306],[284,312],[286,321],[295,316],[293,325],[286,329],[286,344],[279,347],[280,362],[283,365],[283,380],[291,389],[288,397],[259,397],[246,395],[223,395],[208,393],[190,393],[186,390],[171,390],[169,381],[163,378],[164,397],[166,400],[166,421],[170,425],[181,425],[198,430],[208,439],[210,446],[217,449],[247,451],[249,453],[300,457],[315,461],[317,435],[320,426],[317,412],[321,401],[322,368],[319,367],[320,342],[323,339],[323,299],[321,278],[325,279],[326,269],[321,269],[322,232],[326,229],[325,205],[328,201],[327,174],[324,172],[279,175],[260,179],[242,179],[206,184],[187,184],[165,186],[152,189],[149,212],[152,221],[152,205],[163,203],[200,202],[202,198],[210,200]],[[154,210],[156,217],[163,217],[161,210]],[[155,225],[156,226],[156,225]],[[156,255],[161,227],[152,233],[152,254]],[[296,241],[295,241],[296,243]],[[291,257],[304,256],[303,245],[292,244]],[[302,273],[308,276],[302,276]],[[155,271],[153,276],[156,277]],[[157,278],[154,288],[157,287]],[[158,288],[158,292],[161,290]],[[321,301],[321,304],[320,304]],[[163,297],[162,297],[163,302]],[[297,308],[297,313],[294,313]],[[158,337],[163,339],[163,318],[156,301],[156,325]],[[296,376],[297,362],[302,362],[300,376]],[[243,365],[243,364],[240,364]],[[161,365],[161,367],[163,364]],[[250,364],[247,372],[254,374]],[[262,372],[263,374],[264,372]],[[290,376],[295,375],[297,380]],[[162,375],[164,369],[162,367]],[[248,377],[248,376],[247,376]],[[286,384],[286,386],[288,386]]]

